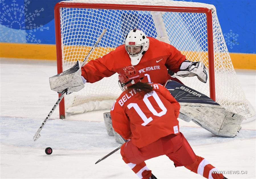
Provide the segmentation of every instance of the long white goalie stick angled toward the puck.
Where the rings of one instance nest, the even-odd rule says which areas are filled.
[[[97,41],[95,42],[95,44],[93,45],[93,47],[91,48],[91,50],[89,51],[89,53],[87,54],[87,56],[85,57],[84,61],[82,62],[82,65],[85,65],[85,62],[87,61],[87,59],[89,58],[89,56],[91,55],[91,53],[93,52],[93,50],[95,49],[96,45],[99,43],[99,41],[101,40],[101,38],[103,37],[103,35],[105,34],[105,32],[107,31],[107,29],[103,29],[101,35],[99,36],[99,38],[97,39]],[[75,65],[73,67],[71,67],[70,69],[74,68]],[[70,69],[66,70],[69,71]],[[81,70],[81,69],[80,69]],[[62,72],[62,74],[65,74],[65,72]],[[65,89],[64,91],[62,91],[61,96],[59,97],[58,101],[55,103],[55,105],[53,106],[52,110],[49,112],[48,116],[45,118],[44,122],[42,123],[42,125],[39,127],[39,129],[36,131],[36,134],[33,137],[34,142],[41,137],[40,135],[40,131],[42,130],[42,128],[44,127],[45,123],[47,122],[48,118],[50,118],[50,116],[52,115],[52,113],[54,112],[56,106],[58,106],[58,104],[60,103],[60,101],[62,100],[62,98],[64,97],[65,93],[67,92],[68,89]]]

